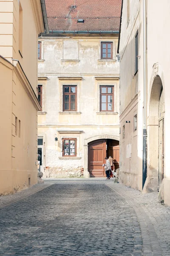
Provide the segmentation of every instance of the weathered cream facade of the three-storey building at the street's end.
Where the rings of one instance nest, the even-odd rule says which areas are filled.
[[[118,35],[51,35],[39,38],[42,111],[38,136],[43,139],[41,170],[46,177],[88,177],[88,143],[119,141]],[[113,43],[113,59],[101,59],[101,42]],[[63,111],[63,86],[77,87],[77,111]],[[100,86],[114,88],[114,110],[100,111]],[[55,138],[58,140],[55,141]],[[76,156],[63,156],[62,141],[77,140]]]

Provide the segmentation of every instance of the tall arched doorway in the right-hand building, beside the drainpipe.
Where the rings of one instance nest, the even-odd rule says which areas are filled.
[[[150,93],[148,122],[148,173],[151,190],[157,191],[164,178],[164,90],[160,76],[156,76]]]

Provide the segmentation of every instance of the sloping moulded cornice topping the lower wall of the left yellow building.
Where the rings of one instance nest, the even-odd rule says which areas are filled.
[[[21,84],[23,85],[24,89],[26,90],[26,93],[28,94],[29,98],[31,99],[31,102],[34,104],[34,107],[37,109],[37,111],[41,110],[41,105],[37,99],[37,96],[31,87],[30,82],[28,81],[28,78],[26,77],[19,61],[15,61],[14,63],[14,72],[17,75],[17,78],[20,80]]]

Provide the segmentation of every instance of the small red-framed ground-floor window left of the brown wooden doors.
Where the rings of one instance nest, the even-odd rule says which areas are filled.
[[[62,156],[76,156],[76,139],[63,139]]]

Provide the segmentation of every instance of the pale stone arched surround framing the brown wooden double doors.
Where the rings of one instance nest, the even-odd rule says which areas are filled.
[[[84,139],[84,177],[90,177],[88,172],[88,143],[94,140],[101,139],[111,139],[119,141],[119,136],[113,134],[97,134]]]

